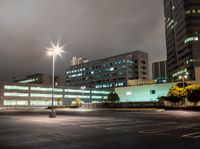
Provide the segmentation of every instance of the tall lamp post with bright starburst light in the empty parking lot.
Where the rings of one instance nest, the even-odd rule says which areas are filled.
[[[51,42],[51,48],[47,48],[47,54],[49,56],[52,56],[52,101],[51,101],[51,112],[49,113],[50,118],[55,118],[56,117],[56,112],[53,108],[54,106],[54,72],[55,72],[55,59],[56,56],[61,56],[64,51],[62,50],[64,46],[60,46],[59,43],[56,45]]]

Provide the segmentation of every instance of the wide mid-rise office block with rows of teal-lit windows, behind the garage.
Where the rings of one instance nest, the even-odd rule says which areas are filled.
[[[71,66],[66,70],[66,77],[69,86],[127,86],[128,80],[148,79],[148,54],[134,51]]]

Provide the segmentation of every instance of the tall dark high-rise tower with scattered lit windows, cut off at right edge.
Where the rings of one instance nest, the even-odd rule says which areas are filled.
[[[164,0],[167,75],[200,80],[200,1]]]

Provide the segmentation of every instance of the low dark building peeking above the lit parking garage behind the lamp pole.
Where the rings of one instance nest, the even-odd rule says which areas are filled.
[[[65,85],[65,77],[55,76],[55,85]],[[33,84],[52,84],[52,76],[46,74],[33,74],[26,76],[26,78],[15,79],[13,82],[18,83],[33,83]]]

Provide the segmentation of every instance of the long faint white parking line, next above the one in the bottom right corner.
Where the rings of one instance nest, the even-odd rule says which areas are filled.
[[[165,132],[165,131],[170,131],[170,130],[177,130],[177,129],[187,129],[187,128],[192,128],[192,127],[196,127],[196,126],[200,126],[199,123],[194,123],[194,124],[185,124],[185,125],[179,125],[176,127],[169,127],[169,128],[162,128],[162,129],[148,129],[148,130],[141,130],[138,131],[138,133],[160,133],[160,132]]]

